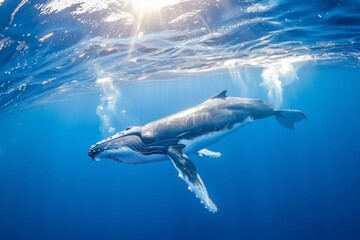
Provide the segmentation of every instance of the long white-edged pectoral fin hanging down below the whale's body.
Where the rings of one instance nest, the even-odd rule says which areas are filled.
[[[201,203],[203,203],[210,212],[217,212],[218,208],[210,199],[195,165],[181,149],[182,147],[178,145],[168,148],[168,156],[179,172],[179,178],[187,183],[188,190],[194,192],[196,197],[200,199]]]

